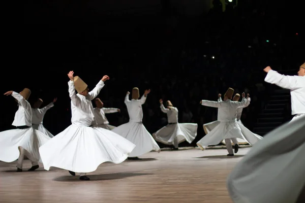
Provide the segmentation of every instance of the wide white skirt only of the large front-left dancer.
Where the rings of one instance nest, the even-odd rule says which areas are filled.
[[[134,148],[134,144],[110,130],[72,124],[39,151],[45,170],[54,166],[89,173],[103,162],[123,162]]]

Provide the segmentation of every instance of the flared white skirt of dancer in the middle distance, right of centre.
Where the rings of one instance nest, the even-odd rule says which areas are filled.
[[[184,141],[192,143],[197,136],[197,127],[196,123],[168,124],[153,133],[153,137],[155,140],[167,145],[174,145],[175,138],[178,144]]]

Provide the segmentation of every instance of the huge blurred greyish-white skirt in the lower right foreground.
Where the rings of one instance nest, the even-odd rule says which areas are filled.
[[[293,203],[304,194],[304,131],[305,117],[284,124],[236,164],[227,180],[235,203]]]

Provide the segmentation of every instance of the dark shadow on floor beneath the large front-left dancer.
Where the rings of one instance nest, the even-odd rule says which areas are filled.
[[[59,181],[59,182],[78,182],[82,181],[79,180],[79,176],[60,176],[57,178],[54,178],[53,181]],[[128,177],[134,177],[134,176],[145,176],[145,175],[153,175],[148,173],[114,173],[114,174],[99,174],[99,175],[90,175],[88,174],[88,177],[90,178],[89,181],[106,181],[106,180],[117,180],[117,179],[124,179]],[[87,182],[87,181],[86,181]]]

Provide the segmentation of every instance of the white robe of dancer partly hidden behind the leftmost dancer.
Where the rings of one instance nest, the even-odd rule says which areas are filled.
[[[32,108],[32,126],[34,129],[37,129],[41,132],[43,132],[44,134],[46,134],[47,136],[49,136],[50,138],[53,138],[53,134],[51,132],[49,132],[44,126],[43,126],[43,118],[44,115],[46,114],[46,112],[50,109],[54,107],[54,104],[51,102],[50,104],[48,104],[47,106],[45,106],[44,108],[41,109],[33,109]]]

